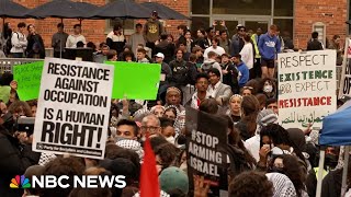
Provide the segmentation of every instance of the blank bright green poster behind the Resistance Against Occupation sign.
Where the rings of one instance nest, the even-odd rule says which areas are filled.
[[[159,63],[105,63],[114,66],[112,99],[156,100],[161,73]]]

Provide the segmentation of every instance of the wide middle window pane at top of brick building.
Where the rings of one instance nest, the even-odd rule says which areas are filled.
[[[213,0],[214,14],[271,15],[272,0]]]

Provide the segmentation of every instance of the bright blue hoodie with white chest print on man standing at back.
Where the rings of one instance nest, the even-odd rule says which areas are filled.
[[[275,59],[275,55],[281,51],[281,42],[276,36],[271,37],[269,33],[260,36],[258,45],[263,59]]]

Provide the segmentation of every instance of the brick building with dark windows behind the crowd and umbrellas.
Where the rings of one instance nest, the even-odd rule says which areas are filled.
[[[15,0],[27,7],[35,8],[48,0]],[[81,0],[102,5],[109,0]],[[136,0],[145,2],[148,0]],[[335,34],[344,37],[349,32],[346,21],[349,20],[349,2],[347,0],[151,0],[168,5],[185,15],[191,21],[166,21],[167,31],[177,35],[177,26],[185,23],[196,30],[207,27],[213,21],[226,21],[234,34],[237,24],[244,24],[248,30],[262,27],[267,30],[272,23],[278,24],[281,32],[294,39],[295,47],[306,48],[306,43],[313,31],[318,31],[320,39],[326,43]],[[7,20],[16,26],[20,20]],[[52,35],[56,32],[59,19],[24,20],[36,26],[43,36],[46,47],[50,46]],[[144,23],[145,21],[137,21]],[[72,25],[78,20],[64,20],[66,32],[72,32]],[[114,22],[110,20],[83,20],[82,28],[87,40],[99,44],[105,39]],[[125,21],[125,34],[132,34],[136,21]]]

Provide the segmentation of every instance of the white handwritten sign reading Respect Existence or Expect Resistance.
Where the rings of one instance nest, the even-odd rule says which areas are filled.
[[[278,55],[279,118],[284,128],[321,128],[337,109],[336,50]]]

